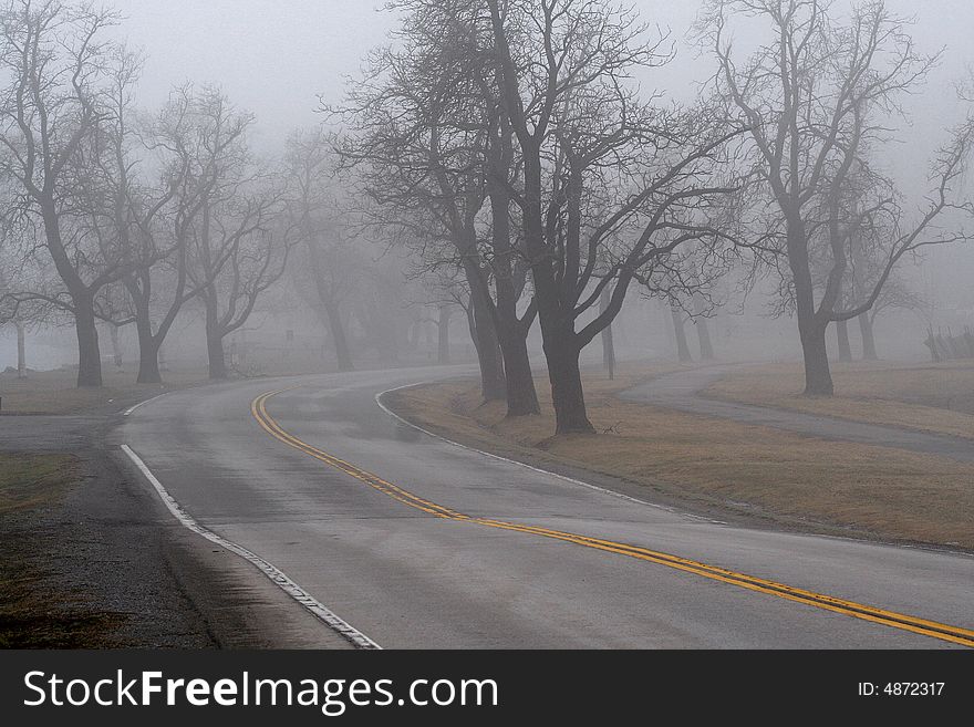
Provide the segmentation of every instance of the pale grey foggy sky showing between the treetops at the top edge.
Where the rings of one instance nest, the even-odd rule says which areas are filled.
[[[383,43],[395,25],[395,17],[381,11],[384,0],[115,0],[108,4],[126,17],[118,32],[147,55],[141,105],[158,106],[174,84],[187,80],[217,83],[257,115],[259,144],[268,146],[276,146],[294,126],[318,121],[318,94],[339,102],[344,77],[358,73],[363,54]],[[681,98],[692,95],[694,82],[713,71],[712,61],[698,58],[685,40],[701,2],[635,0],[633,4],[643,21],[670,29],[677,41],[676,61],[654,71],[650,83]],[[904,137],[918,148],[904,154],[905,165],[912,166],[929,154],[928,127],[939,132],[945,116],[960,116],[952,84],[966,65],[974,64],[974,3],[889,0],[888,6],[915,15],[914,38],[921,50],[946,46],[943,65],[910,108],[914,133]]]

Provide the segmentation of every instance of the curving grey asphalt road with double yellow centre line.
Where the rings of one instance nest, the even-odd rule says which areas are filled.
[[[456,373],[175,392],[115,444],[382,647],[974,645],[974,558],[702,520],[452,446],[375,403]]]

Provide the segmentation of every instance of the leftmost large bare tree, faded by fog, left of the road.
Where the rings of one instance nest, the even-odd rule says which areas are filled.
[[[66,295],[77,335],[77,384],[101,386],[94,298],[125,272],[117,248],[102,249],[76,218],[79,155],[104,116],[115,44],[110,11],[55,0],[8,0],[0,10],[0,174],[18,186],[17,210],[34,217]],[[41,293],[38,293],[40,295]],[[21,300],[27,300],[21,297]]]

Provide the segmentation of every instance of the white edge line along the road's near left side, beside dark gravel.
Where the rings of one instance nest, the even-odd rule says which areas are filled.
[[[349,622],[344,621],[341,616],[335,614],[333,611],[329,610],[323,603],[318,601],[314,596],[312,596],[308,591],[298,585],[294,581],[292,581],[283,571],[279,570],[272,563],[266,561],[260,555],[247,550],[242,546],[238,546],[237,543],[218,536],[217,533],[207,530],[201,525],[196,522],[193,517],[183,509],[183,506],[176,501],[176,499],[169,495],[163,484],[156,478],[155,475],[152,474],[152,470],[146,466],[146,464],[142,460],[142,458],[136,455],[132,447],[128,445],[122,445],[122,450],[128,455],[128,458],[135,463],[135,466],[138,467],[139,471],[145,475],[145,478],[149,481],[149,484],[155,488],[156,492],[159,496],[159,499],[163,500],[163,503],[173,513],[173,517],[176,518],[184,527],[188,528],[193,532],[203,536],[207,540],[221,548],[226,548],[231,553],[236,553],[240,555],[240,558],[247,560],[251,564],[256,565],[265,575],[267,575],[271,582],[273,582],[278,588],[280,588],[284,593],[290,595],[294,601],[300,603],[304,609],[310,611],[314,616],[317,616],[320,621],[324,622],[330,629],[338,632],[340,635],[344,636],[348,641],[350,641],[354,646],[359,648],[382,648],[374,641],[369,638],[361,631],[352,626]]]

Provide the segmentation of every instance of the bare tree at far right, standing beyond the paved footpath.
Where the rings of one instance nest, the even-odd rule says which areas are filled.
[[[728,27],[735,17],[766,31],[766,42],[744,61],[735,53]],[[798,318],[805,392],[831,395],[829,323],[868,311],[904,255],[963,239],[934,222],[956,206],[954,186],[972,143],[972,125],[959,128],[939,153],[928,205],[912,225],[901,216],[873,288],[858,304],[839,310],[850,217],[868,212],[846,208],[843,196],[870,142],[885,135],[882,114],[899,111],[899,100],[924,80],[936,58],[916,51],[908,23],[881,0],[856,4],[848,18],[827,0],[712,0],[701,19],[701,38],[717,60],[715,81],[732,116],[748,131],[755,178],[779,212],[773,229],[788,263],[784,289]],[[878,198],[867,207],[892,204]],[[828,259],[818,295],[811,262],[816,247]]]

